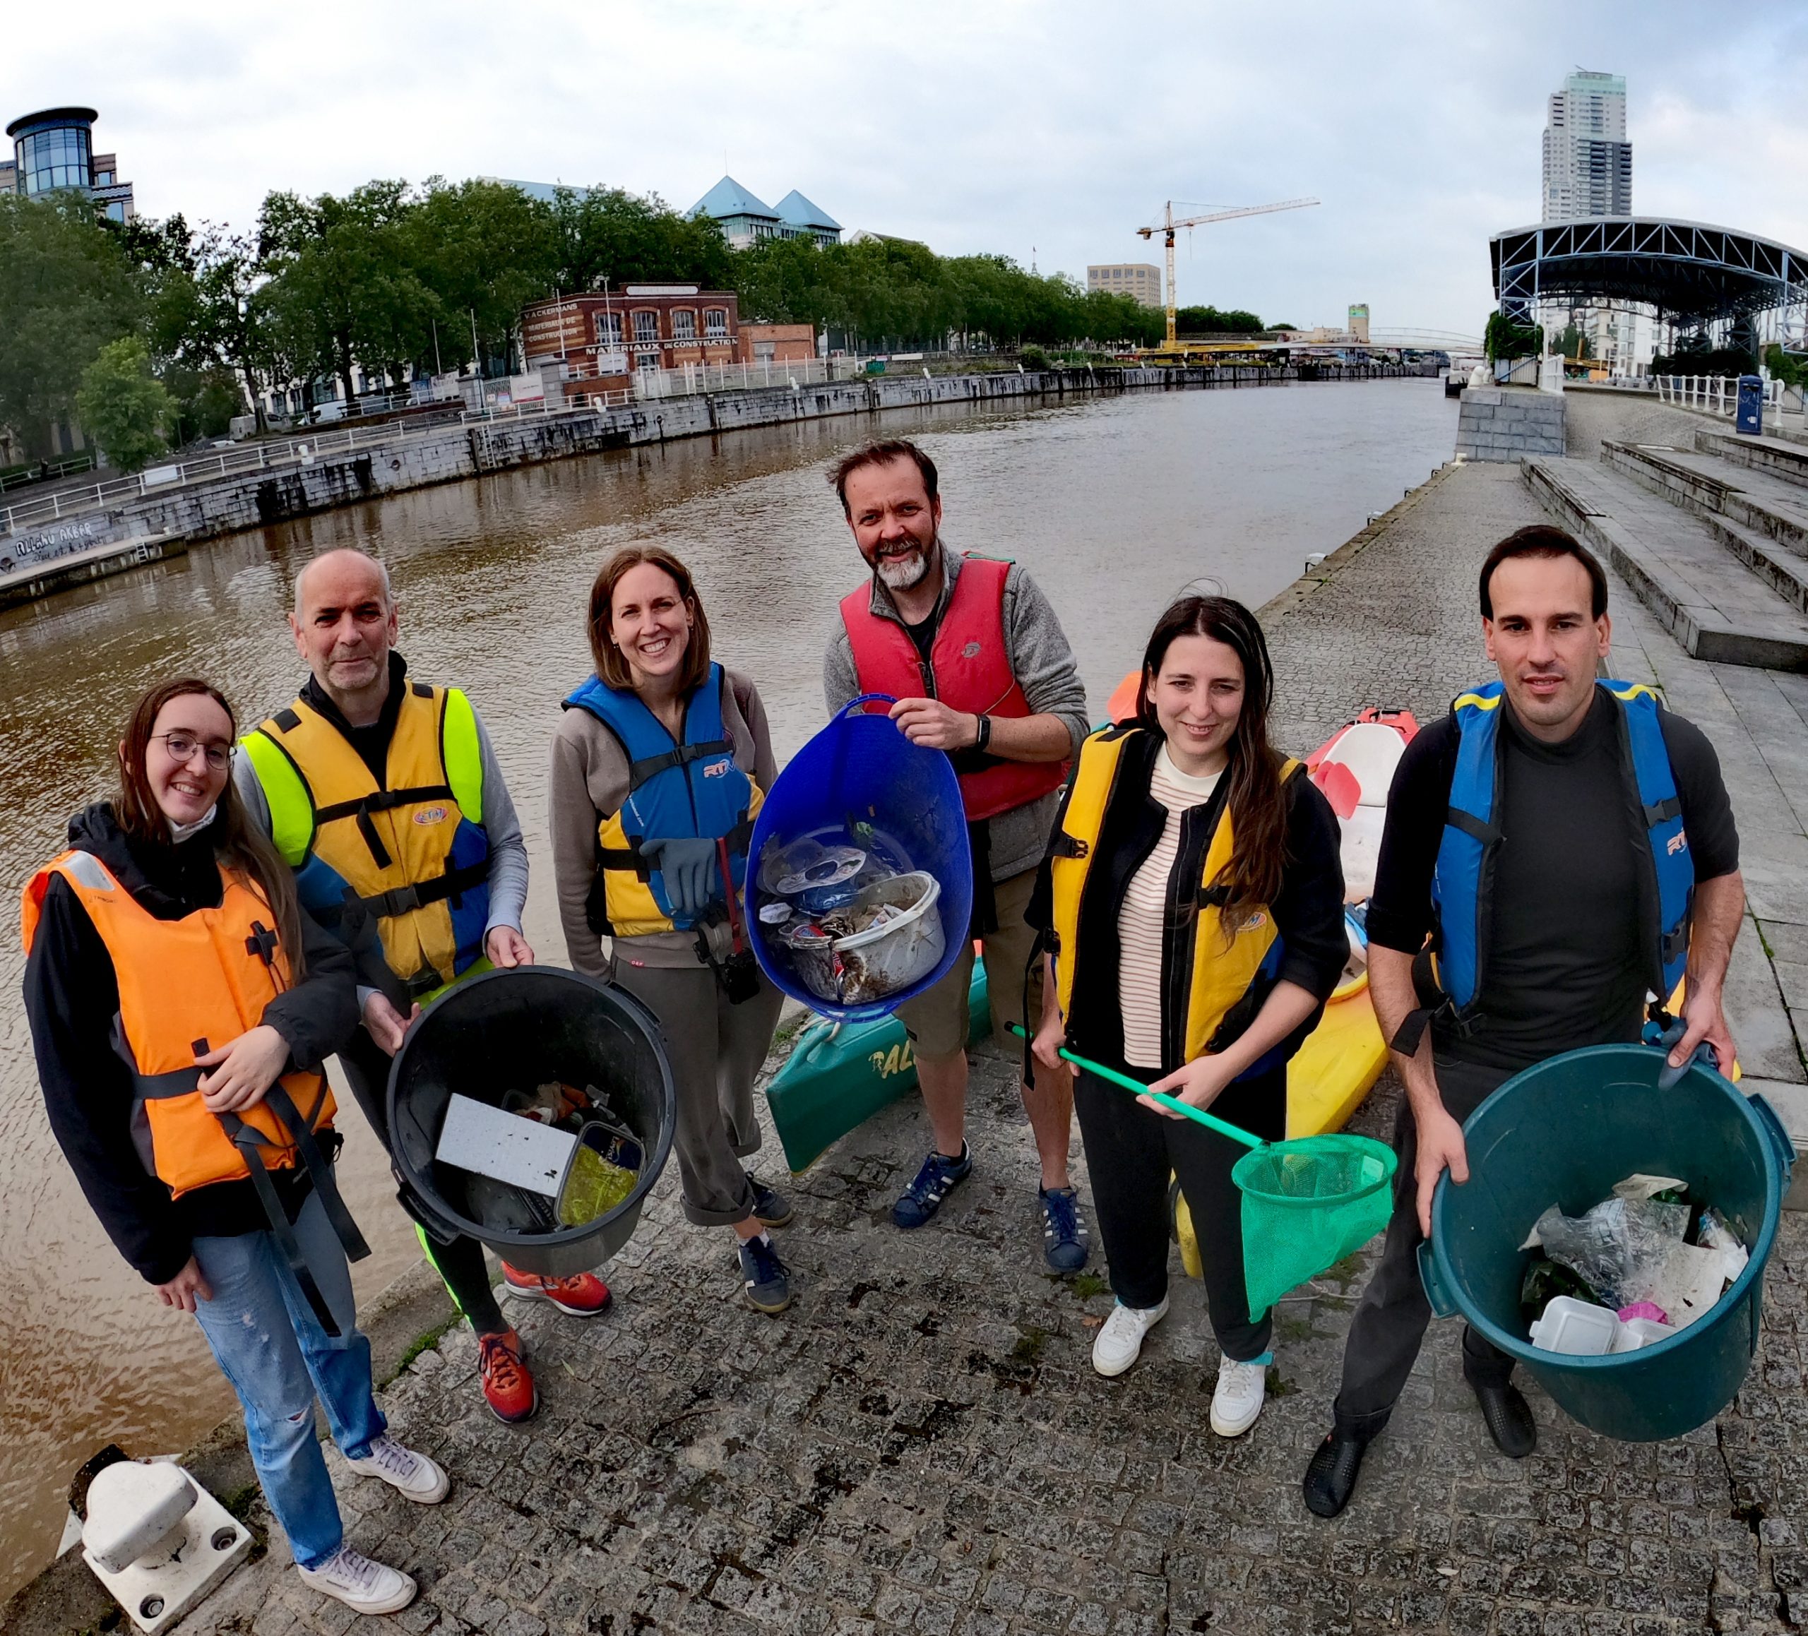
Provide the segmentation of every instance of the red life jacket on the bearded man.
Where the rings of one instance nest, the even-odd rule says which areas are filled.
[[[1029,700],[1011,672],[1005,644],[1007,573],[1009,562],[962,557],[955,595],[947,598],[928,665],[904,625],[873,613],[871,582],[848,591],[841,598],[841,622],[848,629],[861,692],[888,692],[893,698],[929,694],[955,710],[1032,716]],[[967,821],[978,823],[1014,806],[1029,806],[1058,790],[1065,779],[1065,761],[985,757],[976,772],[960,774],[960,795]]]

